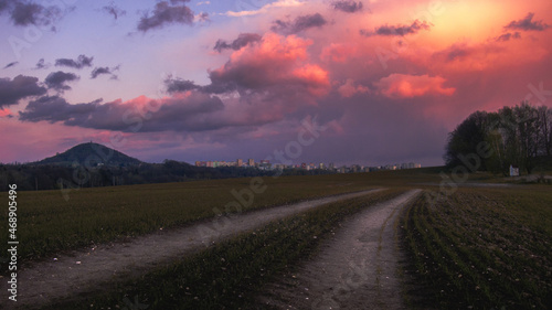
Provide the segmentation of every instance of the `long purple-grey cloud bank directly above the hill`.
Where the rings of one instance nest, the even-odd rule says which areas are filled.
[[[62,122],[66,126],[83,128],[120,130],[126,132],[144,131],[206,131],[224,127],[224,121],[211,114],[223,110],[224,105],[219,97],[201,93],[190,96],[174,96],[168,99],[153,100],[138,97],[127,103],[120,100],[100,104],[102,99],[92,103],[68,104],[59,96],[44,96],[29,103],[24,111],[20,111],[22,121]],[[140,110],[140,104],[158,107],[150,113]]]

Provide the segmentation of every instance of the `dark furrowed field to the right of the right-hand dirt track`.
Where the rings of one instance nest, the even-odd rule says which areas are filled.
[[[401,222],[418,309],[549,309],[552,304],[550,186],[459,189]],[[408,269],[408,268],[407,268]]]

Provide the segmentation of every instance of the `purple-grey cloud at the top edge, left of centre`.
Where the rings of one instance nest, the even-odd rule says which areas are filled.
[[[181,24],[192,24],[193,23],[193,11],[184,4],[174,6],[179,2],[185,3],[188,1],[171,0],[171,4],[167,1],[161,1],[156,4],[153,13],[149,15],[147,13],[138,22],[138,30],[141,32],[147,32],[150,29],[162,28],[166,24],[181,23]]]

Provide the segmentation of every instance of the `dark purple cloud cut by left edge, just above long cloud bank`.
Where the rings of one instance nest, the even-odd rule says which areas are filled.
[[[39,78],[18,75],[13,79],[0,78],[0,108],[17,105],[20,99],[41,96],[46,88],[39,85]]]

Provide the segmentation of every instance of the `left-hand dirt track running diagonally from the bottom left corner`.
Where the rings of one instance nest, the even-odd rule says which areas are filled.
[[[145,274],[156,266],[205,248],[212,242],[220,242],[237,233],[326,203],[375,191],[378,190],[335,195],[232,217],[221,216],[215,222],[198,223],[137,237],[128,243],[100,245],[52,257],[19,271],[18,301],[8,303],[2,300],[2,308],[6,309],[6,306],[13,309],[29,309],[60,298],[83,296],[97,290],[102,284],[121,281]],[[2,279],[1,296],[6,297],[7,289],[8,284]]]

